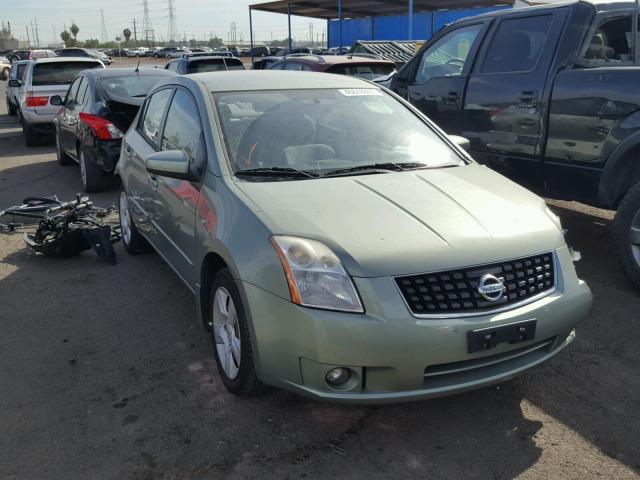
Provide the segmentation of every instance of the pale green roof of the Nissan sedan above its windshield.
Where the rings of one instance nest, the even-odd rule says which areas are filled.
[[[289,72],[284,70],[230,70],[188,75],[204,84],[210,92],[242,92],[259,90],[305,90],[335,88],[379,88],[347,75],[330,73]]]

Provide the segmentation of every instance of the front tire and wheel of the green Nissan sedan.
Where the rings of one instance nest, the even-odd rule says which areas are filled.
[[[263,391],[264,384],[256,375],[251,335],[242,299],[226,268],[220,270],[213,279],[209,298],[209,314],[213,323],[211,340],[220,378],[227,390],[234,395],[255,397]]]

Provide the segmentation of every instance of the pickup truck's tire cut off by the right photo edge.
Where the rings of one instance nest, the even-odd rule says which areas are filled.
[[[640,290],[640,184],[632,187],[620,202],[613,232],[618,260]]]

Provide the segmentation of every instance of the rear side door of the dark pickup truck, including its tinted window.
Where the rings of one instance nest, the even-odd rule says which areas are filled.
[[[530,188],[542,184],[545,89],[566,8],[497,19],[465,96],[462,135],[474,158]]]

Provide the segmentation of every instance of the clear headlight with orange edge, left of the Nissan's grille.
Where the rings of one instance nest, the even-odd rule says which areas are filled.
[[[349,275],[324,244],[299,237],[271,237],[289,284],[291,301],[305,307],[362,313]]]

